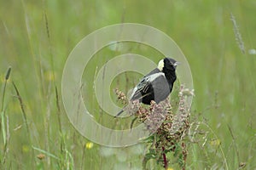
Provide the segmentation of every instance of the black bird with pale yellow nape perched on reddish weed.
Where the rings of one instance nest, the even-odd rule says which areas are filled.
[[[175,59],[161,59],[158,67],[143,77],[141,82],[133,88],[130,101],[139,99],[140,103],[150,105],[151,100],[159,104],[172,92],[173,83],[176,81],[176,66],[179,63]],[[122,111],[115,116],[119,116]]]

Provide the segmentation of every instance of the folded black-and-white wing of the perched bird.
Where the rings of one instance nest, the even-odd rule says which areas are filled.
[[[151,73],[152,72],[153,71],[151,71]],[[154,80],[159,77],[163,77],[165,79],[165,74],[163,72],[156,71],[155,73],[149,76],[146,75],[145,77],[143,77],[141,82],[139,82],[137,86],[133,89],[130,100],[142,99],[144,96],[149,95],[150,93],[146,94],[146,92],[148,91],[148,88],[150,87],[151,83],[154,82]],[[143,96],[142,96],[142,93],[144,94]]]

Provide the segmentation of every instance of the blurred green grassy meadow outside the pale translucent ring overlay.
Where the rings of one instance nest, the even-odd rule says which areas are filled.
[[[90,143],[61,105],[68,54],[90,32],[122,22],[166,32],[189,61],[195,87],[191,122],[200,122],[191,131],[201,133],[187,139],[187,168],[255,169],[255,8],[253,0],[1,0],[1,101],[5,72],[12,67],[1,102],[1,169],[141,169],[143,144],[111,149]],[[169,166],[179,168],[175,162]],[[154,161],[148,167],[160,169]]]

